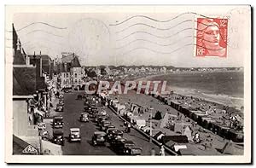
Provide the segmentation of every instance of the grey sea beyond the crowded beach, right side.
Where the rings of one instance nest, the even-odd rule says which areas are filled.
[[[150,80],[165,80],[169,90],[183,95],[199,96],[236,107],[243,106],[243,72],[179,72],[154,76]]]

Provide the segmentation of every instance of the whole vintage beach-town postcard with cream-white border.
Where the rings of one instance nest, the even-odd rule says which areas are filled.
[[[7,163],[252,162],[249,5],[5,16]]]

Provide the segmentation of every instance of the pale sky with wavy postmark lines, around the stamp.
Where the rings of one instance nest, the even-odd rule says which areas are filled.
[[[79,55],[84,66],[243,67],[244,56],[250,56],[247,13],[242,7],[143,12],[116,9],[102,13],[44,11],[15,13],[13,23],[27,54],[41,51],[55,58],[61,57],[61,52],[72,52]],[[201,17],[198,14],[230,18],[226,58],[195,57],[195,20]]]

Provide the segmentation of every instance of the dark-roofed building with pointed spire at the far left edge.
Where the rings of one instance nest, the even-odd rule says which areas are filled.
[[[28,112],[28,100],[37,90],[37,69],[24,58],[21,43],[13,26],[13,134],[15,136],[38,136],[38,127],[33,125],[32,113]],[[24,51],[24,50],[23,50]]]

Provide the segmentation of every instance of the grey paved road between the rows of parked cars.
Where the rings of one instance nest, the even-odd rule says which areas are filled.
[[[65,145],[62,147],[64,155],[115,155],[108,147],[93,147],[90,144],[91,136],[96,131],[96,125],[92,122],[79,122],[80,113],[83,111],[83,101],[75,100],[78,92],[67,93],[64,95],[64,112],[62,114],[64,121]],[[67,142],[69,129],[72,127],[80,128],[81,142]]]

